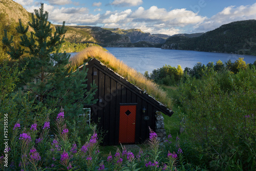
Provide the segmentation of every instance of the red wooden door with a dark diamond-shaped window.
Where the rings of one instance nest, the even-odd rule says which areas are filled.
[[[120,106],[119,143],[135,142],[136,105]]]

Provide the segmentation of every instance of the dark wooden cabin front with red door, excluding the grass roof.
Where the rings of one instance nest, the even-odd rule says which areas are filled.
[[[80,70],[82,69],[79,67]],[[156,112],[172,116],[173,111],[140,90],[134,84],[93,58],[86,63],[88,89],[95,81],[97,103],[91,106],[91,119],[108,131],[104,145],[142,143],[149,138],[149,129],[155,130]]]

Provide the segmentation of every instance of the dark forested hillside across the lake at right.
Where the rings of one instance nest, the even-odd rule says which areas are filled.
[[[256,55],[256,20],[232,22],[199,37],[169,37],[162,49]]]

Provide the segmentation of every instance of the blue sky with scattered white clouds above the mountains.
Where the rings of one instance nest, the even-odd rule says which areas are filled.
[[[52,24],[141,29],[174,35],[256,19],[255,0],[14,0],[34,12],[45,4]]]

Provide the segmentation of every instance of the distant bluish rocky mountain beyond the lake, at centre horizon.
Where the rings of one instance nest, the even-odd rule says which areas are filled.
[[[156,44],[163,44],[165,42],[165,39],[162,38],[160,36],[160,34],[159,35],[151,35],[150,33],[144,33],[140,29],[129,29],[129,30],[124,30],[124,29],[119,29],[119,28],[116,28],[116,29],[104,28],[104,29],[110,30],[113,33],[117,33],[119,35],[128,36],[132,43],[136,43],[139,41],[145,41],[150,44],[156,45]],[[165,36],[168,36],[168,35],[165,35]]]

